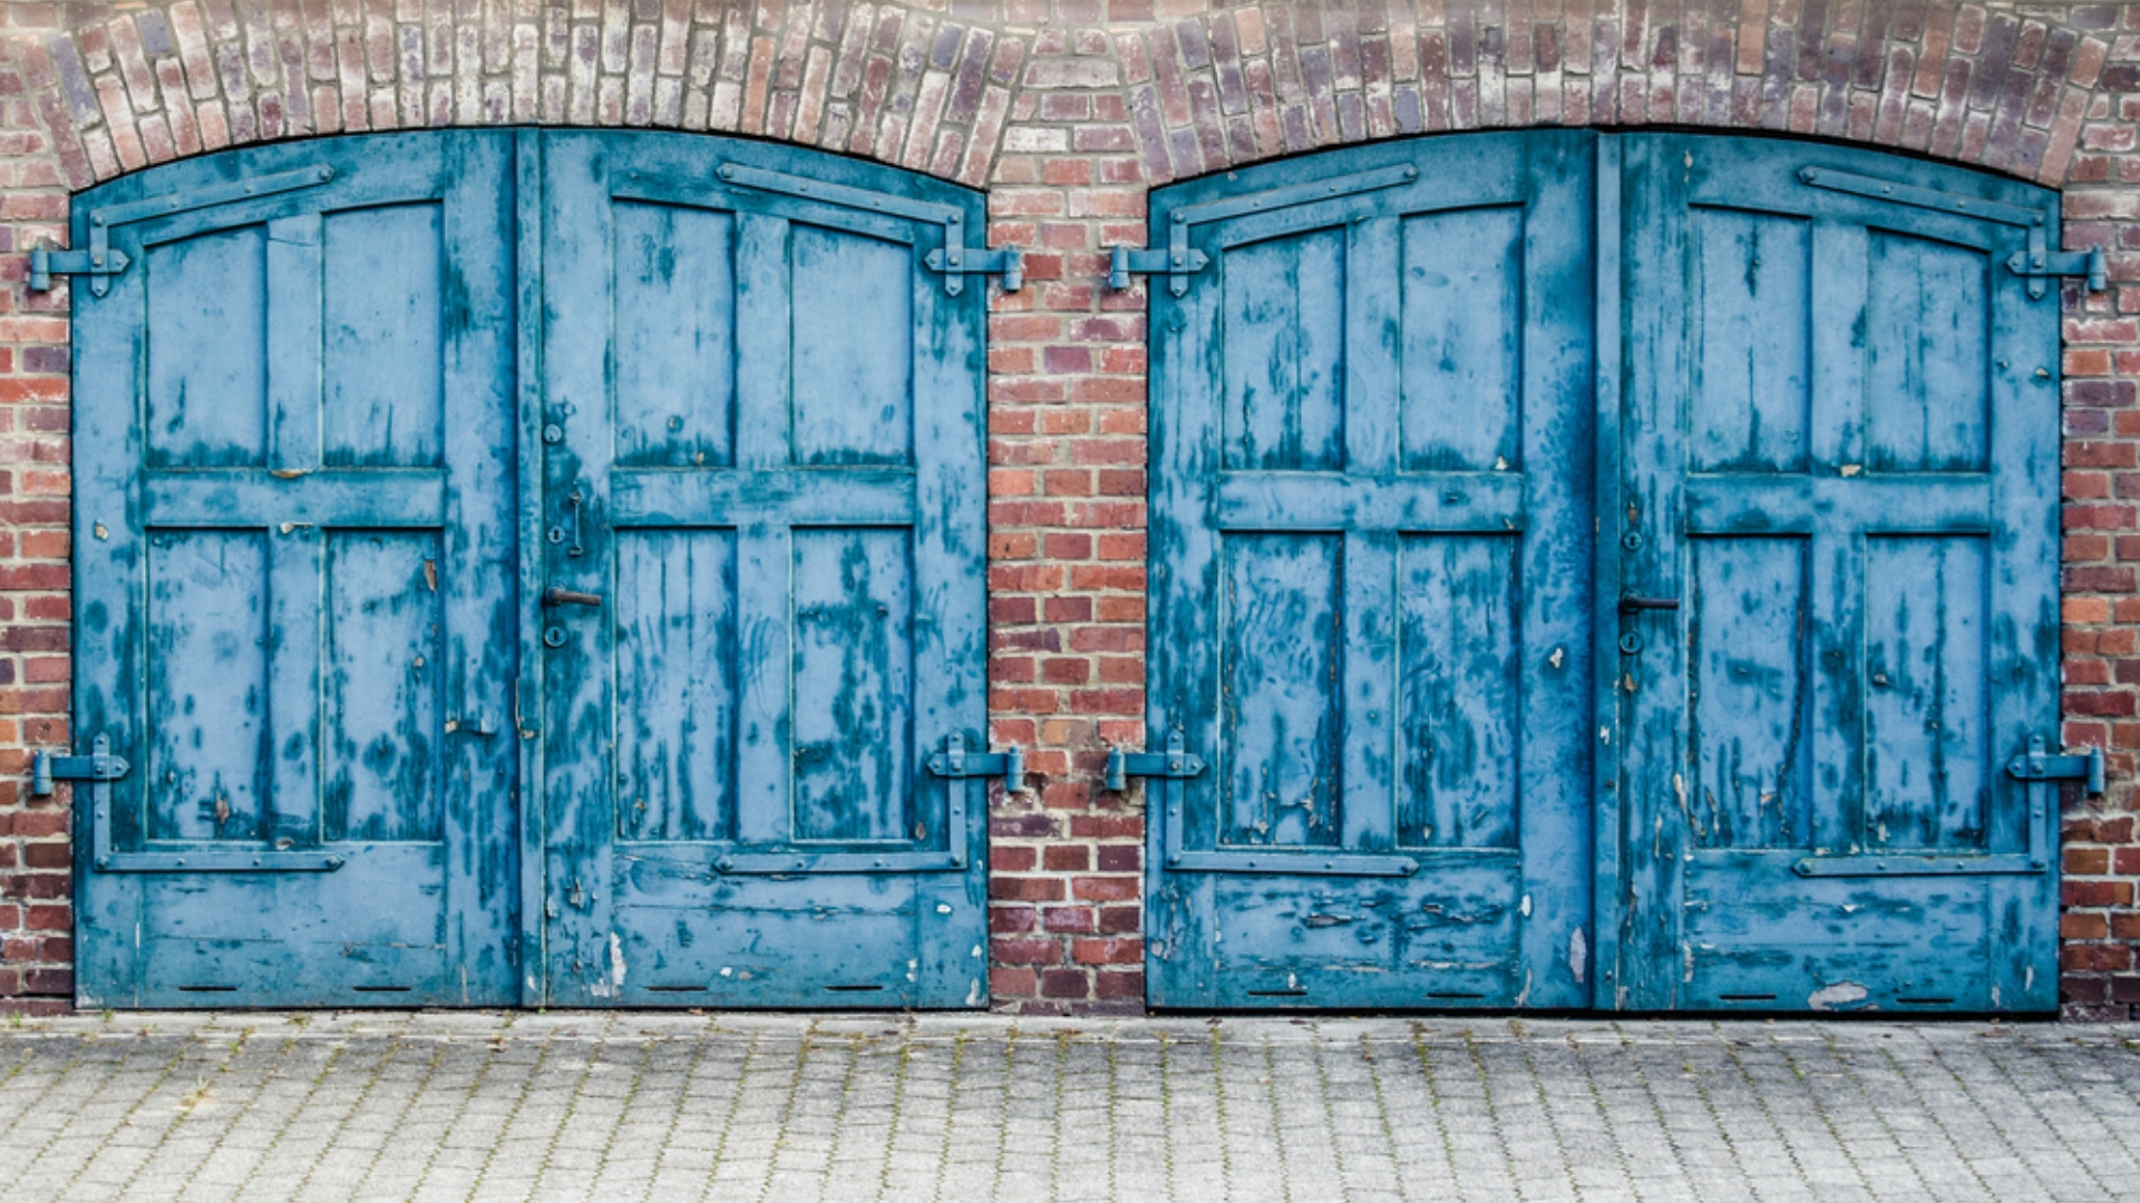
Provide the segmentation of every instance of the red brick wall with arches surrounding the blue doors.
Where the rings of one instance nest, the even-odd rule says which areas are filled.
[[[1145,188],[1325,146],[1526,124],[1736,126],[1890,146],[2067,191],[2065,998],[2140,1004],[2140,9],[1954,0],[143,0],[0,6],[0,998],[64,1000],[64,289],[21,287],[64,197],[173,156],[434,124],[713,128],[991,193],[1029,248],[993,295],[991,711],[1034,747],[993,811],[993,991],[1143,998],[1145,304],[1104,287]],[[2127,28],[2119,28],[2125,21]],[[2129,32],[2127,32],[2129,30]]]

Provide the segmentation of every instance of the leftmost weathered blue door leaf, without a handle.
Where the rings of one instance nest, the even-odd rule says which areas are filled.
[[[511,141],[77,201],[81,1006],[518,998]]]

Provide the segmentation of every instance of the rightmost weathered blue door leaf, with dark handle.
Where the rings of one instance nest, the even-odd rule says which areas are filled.
[[[2050,1010],[2052,193],[1802,143],[1624,154],[1605,505],[1620,1008]]]

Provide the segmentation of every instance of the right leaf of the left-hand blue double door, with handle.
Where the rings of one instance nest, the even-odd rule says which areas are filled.
[[[982,1006],[984,289],[924,268],[980,197],[541,154],[548,998]]]

